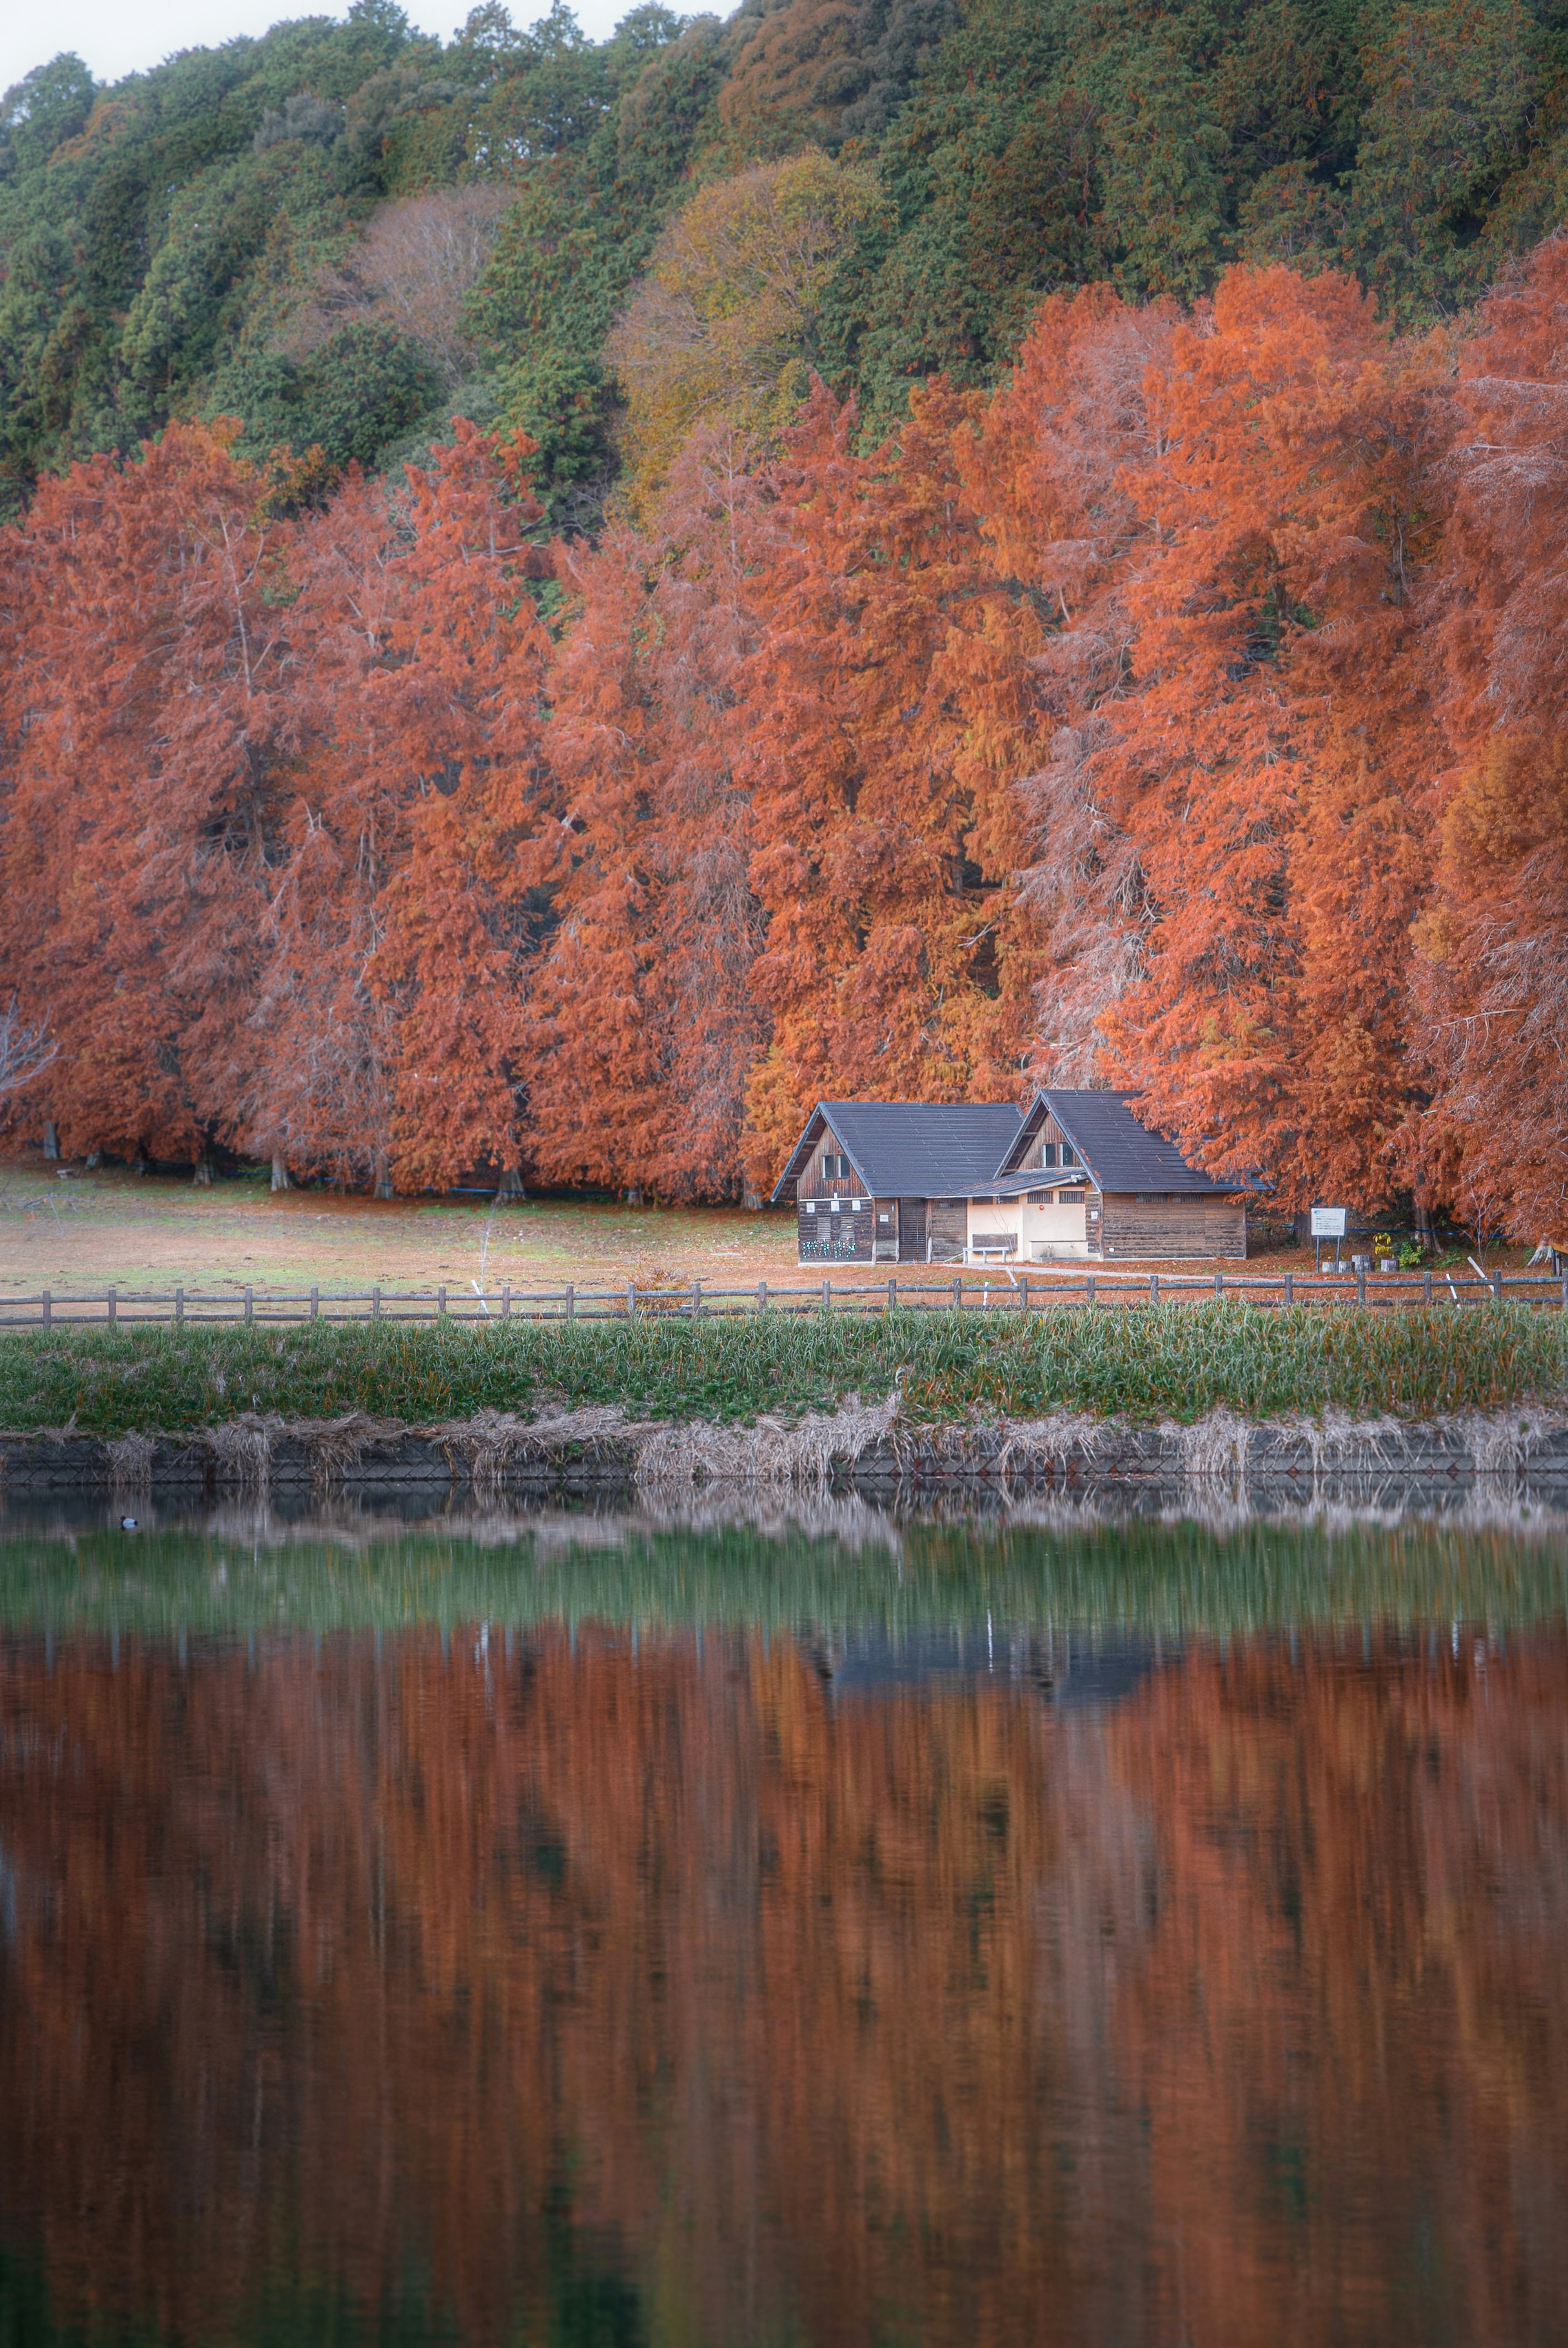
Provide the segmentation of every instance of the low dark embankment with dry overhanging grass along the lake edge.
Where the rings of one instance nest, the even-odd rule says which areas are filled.
[[[1399,1486],[1552,1486],[1568,1493],[1568,1409],[1509,1406],[1427,1418],[1195,1421],[1061,1411],[1040,1418],[974,1411],[948,1423],[847,1397],[831,1411],[751,1425],[638,1418],[617,1404],[535,1416],[477,1411],[413,1425],[347,1411],[336,1418],[239,1413],[181,1432],[92,1435],[80,1428],[0,1432],[0,1493],[265,1496],[272,1491],[448,1489],[507,1493],[1049,1491],[1115,1484],[1300,1493],[1376,1479]]]

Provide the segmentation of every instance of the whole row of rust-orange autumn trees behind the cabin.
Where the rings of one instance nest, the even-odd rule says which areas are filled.
[[[12,1115],[723,1197],[819,1094],[1122,1082],[1284,1205],[1561,1230],[1568,239],[1422,340],[1059,294],[596,547],[523,472],[462,425],[277,519],[171,427],[0,533]]]

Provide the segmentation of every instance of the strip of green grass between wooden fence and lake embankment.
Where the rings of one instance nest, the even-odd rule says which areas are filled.
[[[831,1409],[850,1392],[880,1399],[899,1376],[918,1421],[974,1409],[1192,1421],[1216,1404],[1249,1416],[1422,1416],[1563,1399],[1568,1317],[1526,1305],[1324,1315],[1214,1303],[484,1329],[28,1329],[0,1338],[0,1428],[174,1432],[242,1411],[432,1423],[563,1404],[735,1423]]]

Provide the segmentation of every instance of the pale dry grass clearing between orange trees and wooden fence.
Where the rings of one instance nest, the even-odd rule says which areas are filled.
[[[1486,1268],[1516,1270],[1528,1249],[1486,1249]],[[1253,1263],[1272,1275],[1305,1273],[1312,1249],[1275,1244]],[[1453,1259],[1462,1263],[1462,1254]],[[822,1266],[836,1282],[873,1277],[869,1266]],[[878,1275],[927,1277],[925,1266],[878,1266]],[[1082,1277],[1082,1263],[1028,1266],[1030,1280]],[[1115,1266],[1103,1266],[1115,1277]],[[1244,1273],[1237,1263],[1127,1263],[1127,1273],[1178,1277]],[[796,1261],[789,1207],[627,1207],[617,1200],[491,1197],[371,1200],[338,1190],[268,1188],[265,1174],[221,1176],[197,1188],[178,1174],[103,1167],[61,1172],[38,1153],[0,1165],[0,1294],[38,1296],[106,1289],[209,1291],[244,1287],[303,1294],[312,1287],[369,1294],[371,1287],[474,1291],[502,1284],[526,1294],[575,1282],[582,1289],[800,1287],[815,1270]],[[998,1284],[1007,1273],[998,1273]]]

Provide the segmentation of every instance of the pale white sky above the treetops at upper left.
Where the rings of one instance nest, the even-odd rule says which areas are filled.
[[[634,0],[577,0],[577,23],[594,40],[615,31]],[[451,40],[472,0],[401,0],[404,16],[420,33]],[[549,0],[512,0],[514,23],[545,16]],[[265,33],[284,16],[347,16],[347,0],[45,0],[35,12],[26,0],[0,0],[0,89],[9,89],[33,66],[47,66],[61,49],[75,49],[101,82],[143,73],[174,49],[216,49],[239,33]]]

